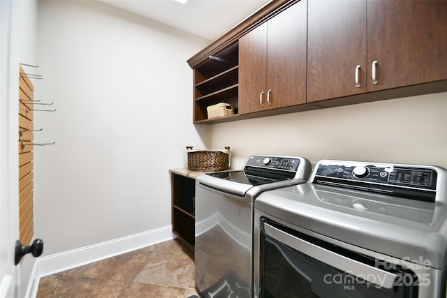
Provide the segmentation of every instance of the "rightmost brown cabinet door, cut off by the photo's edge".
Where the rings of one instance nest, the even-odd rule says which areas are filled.
[[[368,91],[447,79],[447,1],[368,1],[367,17]]]

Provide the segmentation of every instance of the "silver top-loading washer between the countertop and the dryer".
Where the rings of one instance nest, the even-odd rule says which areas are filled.
[[[247,158],[242,170],[196,179],[196,288],[203,297],[253,296],[253,216],[259,194],[302,184],[311,173],[306,158]]]

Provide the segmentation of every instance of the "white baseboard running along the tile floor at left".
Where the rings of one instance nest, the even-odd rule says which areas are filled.
[[[43,276],[87,265],[91,262],[135,251],[174,238],[172,226],[167,225],[166,227],[38,258],[34,263],[25,297],[36,297],[38,282]]]

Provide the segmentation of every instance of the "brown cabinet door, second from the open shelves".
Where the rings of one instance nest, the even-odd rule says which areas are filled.
[[[307,0],[267,23],[267,109],[306,102]],[[269,91],[271,90],[271,91]]]

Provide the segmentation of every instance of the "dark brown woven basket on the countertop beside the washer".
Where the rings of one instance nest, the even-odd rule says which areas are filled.
[[[188,170],[203,172],[218,172],[230,167],[230,147],[226,150],[193,150],[188,149]]]

